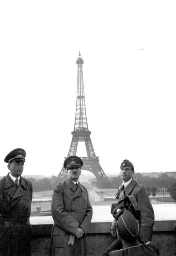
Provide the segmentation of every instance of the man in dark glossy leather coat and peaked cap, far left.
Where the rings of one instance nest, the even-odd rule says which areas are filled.
[[[0,256],[30,256],[32,184],[21,176],[25,157],[16,148],[4,159],[10,172],[0,181]]]

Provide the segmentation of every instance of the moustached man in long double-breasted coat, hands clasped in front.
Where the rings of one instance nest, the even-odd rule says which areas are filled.
[[[68,178],[54,187],[52,197],[52,256],[85,256],[85,235],[92,219],[87,189],[79,177],[83,161],[70,156],[64,162]]]

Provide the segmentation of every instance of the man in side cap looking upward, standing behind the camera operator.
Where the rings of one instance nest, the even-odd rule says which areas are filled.
[[[135,173],[133,164],[125,159],[120,165],[120,174],[122,177],[122,185],[119,187],[116,193],[116,199],[121,201],[126,195],[133,195],[140,206],[141,218],[140,218],[140,237],[145,242],[151,241],[153,234],[153,224],[154,224],[154,211],[148,197],[147,190],[145,187],[140,185],[132,176]],[[116,220],[112,222],[111,235],[116,239]],[[102,256],[108,256],[109,251],[117,250],[122,247],[122,242],[120,239],[116,239],[108,248]]]

